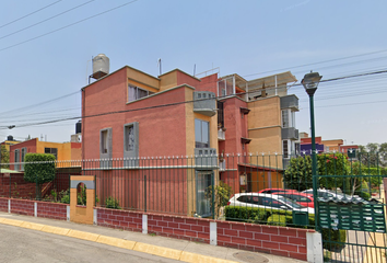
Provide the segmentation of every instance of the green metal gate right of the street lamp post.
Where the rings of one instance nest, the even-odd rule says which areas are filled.
[[[387,170],[365,155],[318,159],[316,227],[326,262],[386,262]]]

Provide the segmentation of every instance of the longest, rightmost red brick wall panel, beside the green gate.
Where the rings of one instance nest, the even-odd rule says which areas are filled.
[[[218,221],[218,245],[306,261],[306,232],[300,228]]]

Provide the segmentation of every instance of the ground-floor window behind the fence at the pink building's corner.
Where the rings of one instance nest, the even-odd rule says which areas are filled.
[[[211,201],[206,197],[206,190],[211,186],[212,172],[197,173],[197,209],[196,213],[200,216],[211,215]]]

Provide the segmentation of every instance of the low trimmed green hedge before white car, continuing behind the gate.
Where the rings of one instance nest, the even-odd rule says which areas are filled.
[[[289,210],[263,209],[253,207],[226,206],[225,218],[232,221],[246,221],[261,225],[273,225],[294,228],[315,228],[315,215],[309,215],[309,225],[297,226],[293,224],[293,213]],[[345,230],[326,229],[321,230],[322,247],[329,251],[337,251],[344,247],[347,239]]]

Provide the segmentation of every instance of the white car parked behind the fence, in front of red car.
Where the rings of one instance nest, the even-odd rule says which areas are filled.
[[[281,195],[261,194],[261,193],[239,193],[235,194],[230,201],[228,206],[257,207],[275,210],[300,210],[315,214],[312,207],[305,207],[296,202]]]

